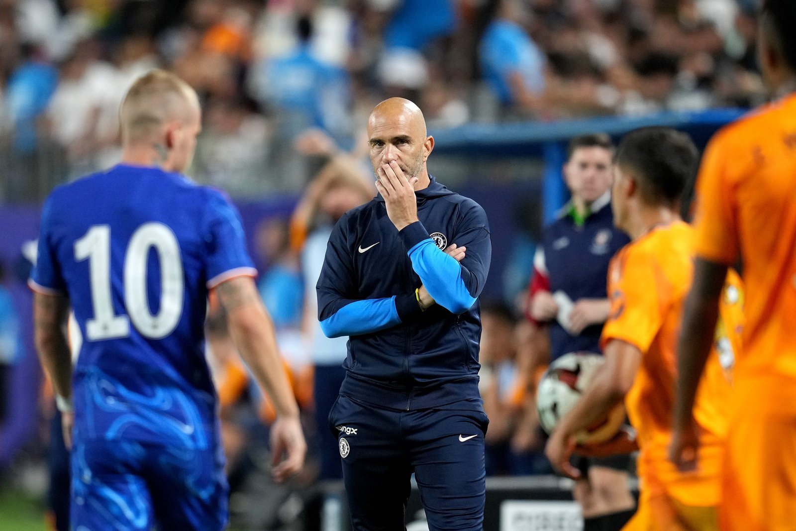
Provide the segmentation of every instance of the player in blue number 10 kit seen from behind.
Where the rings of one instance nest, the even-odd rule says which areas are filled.
[[[211,292],[279,413],[280,481],[306,451],[298,407],[236,210],[181,174],[201,127],[196,93],[154,70],[132,85],[121,118],[122,162],[47,199],[29,281],[36,346],[72,447],[71,525],[220,530],[228,486],[204,353]],[[70,305],[83,336],[73,371]]]

